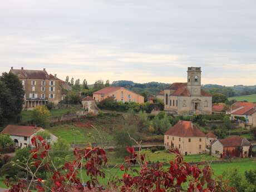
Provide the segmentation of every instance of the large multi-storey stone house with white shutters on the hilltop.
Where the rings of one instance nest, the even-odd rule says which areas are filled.
[[[71,86],[65,81],[57,78],[56,75],[48,75],[46,69],[24,70],[11,68],[10,72],[18,76],[24,87],[24,105],[26,109],[31,109],[37,105],[46,105],[48,102],[58,104],[64,99],[67,90]]]

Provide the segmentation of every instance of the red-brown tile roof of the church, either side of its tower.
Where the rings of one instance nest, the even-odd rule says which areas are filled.
[[[169,89],[175,90],[171,95],[173,96],[191,96],[188,90],[188,83],[173,83]],[[201,89],[201,96],[210,97],[211,94]]]

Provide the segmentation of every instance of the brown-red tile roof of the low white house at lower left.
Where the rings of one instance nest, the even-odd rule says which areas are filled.
[[[29,137],[42,129],[42,127],[35,126],[7,125],[1,134]]]

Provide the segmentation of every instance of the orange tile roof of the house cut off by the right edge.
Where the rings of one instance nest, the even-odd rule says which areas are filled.
[[[236,102],[231,107],[233,115],[252,115],[256,112],[255,105],[252,102]]]

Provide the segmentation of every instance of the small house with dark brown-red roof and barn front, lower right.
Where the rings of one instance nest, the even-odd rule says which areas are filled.
[[[211,142],[211,155],[218,157],[248,157],[250,142],[240,136],[230,136]]]

